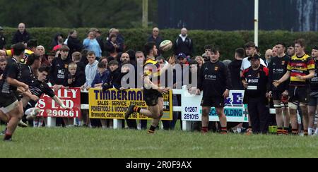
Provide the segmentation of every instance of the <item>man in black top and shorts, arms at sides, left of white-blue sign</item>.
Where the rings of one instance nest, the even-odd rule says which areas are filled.
[[[228,68],[219,61],[220,51],[216,47],[206,46],[209,49],[211,61],[204,63],[199,71],[198,89],[196,94],[203,91],[202,106],[202,130],[201,133],[208,132],[208,114],[211,107],[216,108],[216,113],[220,119],[220,134],[227,134],[227,118],[224,113],[224,99],[229,96],[232,89],[230,72]]]

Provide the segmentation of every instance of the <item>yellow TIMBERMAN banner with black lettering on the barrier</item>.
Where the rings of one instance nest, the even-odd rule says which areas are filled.
[[[164,113],[162,120],[172,121],[172,91],[164,94]],[[89,90],[89,114],[90,118],[102,119],[124,119],[124,115],[131,104],[147,109],[146,102],[143,101],[143,92],[139,89],[131,90]],[[146,119],[146,116],[139,113],[131,114],[130,119]]]

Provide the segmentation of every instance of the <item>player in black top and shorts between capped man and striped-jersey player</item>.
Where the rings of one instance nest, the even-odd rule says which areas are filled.
[[[276,44],[276,56],[271,58],[269,63],[269,97],[273,98],[274,108],[276,109],[277,134],[288,135],[290,125],[289,110],[288,110],[288,89],[289,80],[283,82],[279,87],[273,87],[271,83],[279,80],[287,72],[287,65],[290,57],[285,54],[285,44],[278,42]],[[272,52],[271,49],[269,51]]]

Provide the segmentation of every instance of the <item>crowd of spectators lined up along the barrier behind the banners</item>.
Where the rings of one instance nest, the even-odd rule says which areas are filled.
[[[153,28],[153,32],[145,40],[145,44],[155,42],[158,48],[158,56],[155,60],[162,68],[168,63],[167,57],[163,56],[164,52],[159,49],[160,43],[164,40],[165,38],[160,36],[158,27]],[[247,42],[245,47],[233,47],[235,48],[233,57],[222,62],[219,60],[222,49],[218,47],[202,47],[205,51],[196,56],[199,54],[194,52],[193,48],[196,41],[199,42],[199,40],[191,39],[191,32],[188,32],[186,28],[182,28],[180,35],[176,35],[175,40],[172,41],[172,50],[176,57],[175,64],[190,67],[182,68],[182,80],[174,77],[174,84],[184,85],[185,78],[190,73],[196,73],[199,78],[196,93],[205,90],[204,97],[208,98],[204,98],[201,105],[206,109],[211,109],[213,105],[224,107],[223,99],[219,100],[219,98],[226,98],[228,90],[245,90],[244,103],[248,105],[249,123],[227,123],[222,111],[218,113],[220,123],[208,122],[206,121],[208,110],[204,110],[203,123],[194,123],[194,130],[201,130],[203,133],[208,130],[218,130],[220,133],[231,130],[252,134],[268,133],[269,126],[276,125],[279,135],[290,133],[318,135],[318,129],[315,130],[314,126],[318,105],[318,47],[312,47],[312,52],[307,55],[303,39],[298,39],[295,44],[290,45],[284,42],[273,42],[273,47],[266,50],[263,56],[254,42]],[[126,47],[124,35],[121,35],[116,28],[110,29],[107,33],[91,28],[84,40],[78,39],[76,30],[71,30],[67,36],[57,33],[52,37],[51,47],[43,47],[41,42],[30,35],[25,24],[20,23],[11,41],[12,45],[18,43],[23,43],[26,47],[25,58],[21,60],[21,63],[23,68],[30,72],[24,74],[38,77],[39,68],[49,67],[46,82],[54,90],[59,90],[61,87],[81,87],[81,90],[90,90],[90,88],[122,90],[122,78],[130,70],[125,68],[125,65],[131,64],[137,68],[147,59],[143,49]],[[0,54],[1,79],[7,59],[13,54],[12,49],[4,49],[6,44],[8,40],[4,35],[4,29],[0,27],[0,49],[3,50]],[[33,54],[36,54],[38,58],[29,60]],[[204,74],[211,75],[212,79],[205,78]],[[142,78],[142,75],[142,71],[136,73],[136,80]],[[211,83],[212,90],[206,90],[205,85]],[[81,104],[88,104],[87,93],[81,93]],[[181,97],[174,95],[173,106],[180,104]],[[270,108],[276,109],[276,115],[269,113]],[[180,116],[180,113],[173,112],[173,120],[163,121],[163,128],[175,129],[176,121]],[[298,116],[301,117],[301,121],[298,121]],[[23,118],[24,123],[27,121]],[[33,121],[28,121],[28,125],[36,127],[46,125],[45,120],[40,125],[39,121],[41,119],[35,118]],[[76,123],[67,118],[61,118],[57,119],[57,125],[113,127],[112,120],[90,119],[88,111],[85,110],[82,110],[82,117],[76,119]],[[123,127],[124,125],[125,123]],[[146,129],[147,121],[126,120],[126,127]]]

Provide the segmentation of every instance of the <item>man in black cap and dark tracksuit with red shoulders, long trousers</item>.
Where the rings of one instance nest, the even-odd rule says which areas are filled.
[[[247,104],[253,133],[267,133],[269,114],[266,113],[266,99],[269,69],[261,65],[257,54],[248,57],[251,66],[242,72],[245,87],[244,104]]]

